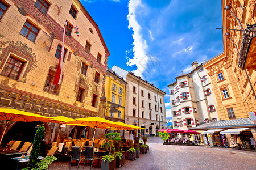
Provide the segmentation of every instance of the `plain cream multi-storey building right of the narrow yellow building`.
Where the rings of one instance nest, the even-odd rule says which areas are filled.
[[[158,135],[158,130],[166,128],[166,93],[120,67],[113,66],[112,70],[127,82],[125,123],[146,128],[138,131],[141,135]]]

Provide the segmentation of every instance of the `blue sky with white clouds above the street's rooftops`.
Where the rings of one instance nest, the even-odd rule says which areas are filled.
[[[221,1],[80,0],[100,31],[113,65],[134,71],[167,93],[191,63],[223,51]]]

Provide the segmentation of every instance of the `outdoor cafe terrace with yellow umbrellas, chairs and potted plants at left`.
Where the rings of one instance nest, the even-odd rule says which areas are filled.
[[[35,154],[32,148],[34,146],[37,147],[39,143],[41,143],[41,147],[38,148],[39,153],[36,156],[37,162],[40,162],[40,160],[43,159],[56,157],[59,160],[70,162],[70,167],[76,165],[77,168],[79,168],[80,164],[83,166],[88,165],[92,168],[93,165],[101,167],[102,165],[106,166],[105,162],[110,162],[112,164],[114,163],[113,166],[115,169],[116,166],[121,167],[121,165],[124,164],[125,158],[130,160],[139,158],[140,147],[147,148],[146,150],[148,151],[148,146],[146,145],[146,139],[144,139],[144,137],[144,145],[139,145],[140,138],[135,137],[134,141],[124,139],[121,138],[120,133],[106,133],[105,138],[94,138],[97,128],[115,131],[143,129],[138,126],[127,125],[122,122],[112,122],[100,117],[86,117],[74,120],[64,116],[51,118],[15,109],[0,109],[0,118],[2,120],[6,120],[5,130],[9,127],[10,121],[52,122],[59,125],[78,125],[94,129],[93,138],[72,139],[69,137],[68,139],[61,139],[59,138],[58,133],[56,141],[47,143],[43,140],[44,125],[38,125],[38,130],[36,131],[33,143],[11,140],[6,146],[0,146],[0,163],[6,169],[26,168],[30,161],[30,156]],[[41,141],[39,140],[40,130],[43,130],[43,137]],[[1,136],[1,142],[4,135],[5,131]],[[108,159],[111,156],[113,156],[114,160]],[[51,160],[51,162],[52,161],[53,160]],[[110,166],[110,164],[108,165]]]

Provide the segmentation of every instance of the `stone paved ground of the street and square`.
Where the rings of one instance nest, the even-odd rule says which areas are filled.
[[[122,169],[256,169],[256,152],[205,146],[163,145],[159,137],[148,139],[150,151],[134,161],[126,160]],[[69,169],[69,162],[52,163],[49,169]],[[76,167],[71,167],[76,169]],[[80,164],[79,169],[82,169]],[[89,166],[84,169],[89,169]],[[93,169],[97,165],[93,165]]]

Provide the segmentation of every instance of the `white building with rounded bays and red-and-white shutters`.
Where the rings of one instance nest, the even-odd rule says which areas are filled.
[[[189,74],[182,73],[168,85],[172,122],[177,129],[219,120],[207,72],[196,61],[191,65],[193,70]]]

